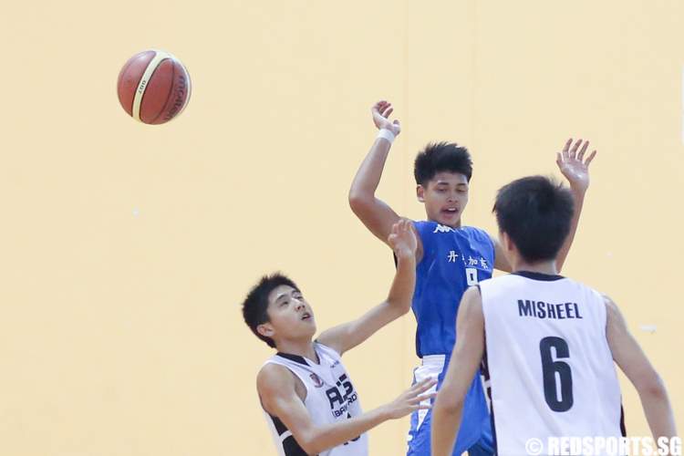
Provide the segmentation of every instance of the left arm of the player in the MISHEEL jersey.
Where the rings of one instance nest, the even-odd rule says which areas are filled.
[[[432,456],[451,456],[461,426],[463,401],[484,354],[484,316],[480,290],[463,294],[456,317],[456,345],[432,409]]]

